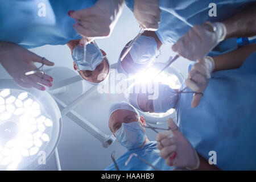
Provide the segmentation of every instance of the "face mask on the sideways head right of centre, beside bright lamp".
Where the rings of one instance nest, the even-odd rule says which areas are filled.
[[[176,105],[178,100],[177,92],[168,85],[159,85],[158,98],[153,100],[155,113],[165,113]]]

